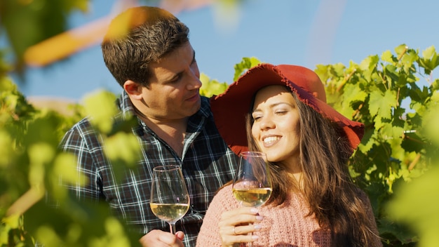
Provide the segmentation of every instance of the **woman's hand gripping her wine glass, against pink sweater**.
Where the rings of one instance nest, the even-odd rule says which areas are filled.
[[[261,229],[258,224],[261,221],[262,216],[258,214],[257,208],[240,207],[222,213],[218,223],[222,246],[256,241],[257,236],[248,234]]]

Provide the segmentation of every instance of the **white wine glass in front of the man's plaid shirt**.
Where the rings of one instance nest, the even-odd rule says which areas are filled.
[[[153,169],[149,206],[157,218],[168,222],[175,234],[175,222],[189,210],[189,193],[179,166],[156,166]]]

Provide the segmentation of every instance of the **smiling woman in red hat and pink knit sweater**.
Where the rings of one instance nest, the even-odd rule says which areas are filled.
[[[370,201],[353,185],[347,166],[364,126],[325,101],[323,84],[310,69],[269,64],[250,69],[212,98],[229,147],[237,154],[266,153],[273,192],[262,207],[248,208],[234,199],[231,184],[222,187],[197,246],[382,246]]]

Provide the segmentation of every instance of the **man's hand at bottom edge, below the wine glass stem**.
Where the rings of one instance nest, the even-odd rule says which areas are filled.
[[[143,235],[139,241],[142,244],[142,247],[184,247],[182,243],[183,238],[184,233],[181,231],[178,231],[173,235],[170,234],[170,232],[163,232],[155,229]]]

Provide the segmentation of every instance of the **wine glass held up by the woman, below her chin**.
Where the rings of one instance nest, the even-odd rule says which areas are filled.
[[[263,152],[241,152],[232,192],[241,206],[262,206],[271,195],[271,180]],[[250,233],[251,234],[251,233]],[[252,246],[252,243],[248,243]]]

